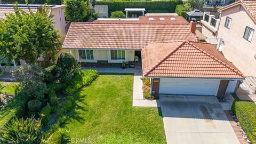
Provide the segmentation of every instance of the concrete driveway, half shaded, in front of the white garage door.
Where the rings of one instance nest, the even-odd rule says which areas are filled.
[[[167,143],[239,143],[218,99],[160,95]]]

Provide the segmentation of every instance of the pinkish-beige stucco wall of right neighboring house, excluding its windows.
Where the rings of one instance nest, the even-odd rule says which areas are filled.
[[[256,76],[256,59],[254,58],[256,54],[256,24],[246,11],[241,8],[238,5],[221,12],[220,27],[217,35],[218,43],[220,38],[224,40],[222,45],[223,55],[233,62],[244,75]],[[230,29],[225,27],[227,16],[232,19]],[[243,38],[246,26],[254,29],[251,42]]]

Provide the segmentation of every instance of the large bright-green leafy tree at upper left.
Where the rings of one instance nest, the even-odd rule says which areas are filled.
[[[0,19],[0,55],[9,62],[22,59],[35,63],[41,55],[46,60],[54,60],[61,43],[52,25],[53,14],[49,15],[49,7],[45,5],[42,13],[33,13],[28,4],[29,12],[19,9],[17,3],[13,7],[15,13]]]

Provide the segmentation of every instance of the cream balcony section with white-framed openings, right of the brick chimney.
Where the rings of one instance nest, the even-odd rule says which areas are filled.
[[[214,47],[217,47],[217,32],[220,19],[219,13],[204,12],[203,19],[201,20],[202,34],[207,37],[206,42],[211,43]]]

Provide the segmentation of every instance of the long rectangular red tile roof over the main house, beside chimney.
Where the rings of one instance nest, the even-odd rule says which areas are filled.
[[[63,49],[141,50],[151,42],[195,40],[189,23],[71,23]]]

